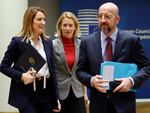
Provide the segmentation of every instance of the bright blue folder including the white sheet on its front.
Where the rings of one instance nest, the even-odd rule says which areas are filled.
[[[106,66],[106,67],[105,67]],[[104,68],[111,68],[110,70],[112,71],[111,73],[109,72],[104,72]],[[109,69],[107,69],[108,71]],[[110,62],[106,61],[104,63],[101,63],[101,69],[100,69],[100,75],[104,76],[109,76],[107,74],[110,74],[111,81],[117,79],[117,78],[127,78],[130,76],[133,76],[137,72],[138,68],[136,64],[131,64],[131,63],[119,63],[119,62]],[[107,73],[107,74],[106,74]],[[107,89],[110,89],[108,85],[105,86]],[[130,89],[130,91],[136,91],[134,89]]]

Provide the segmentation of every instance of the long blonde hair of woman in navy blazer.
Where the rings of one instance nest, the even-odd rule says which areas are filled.
[[[39,11],[42,12],[46,16],[45,11],[40,7],[29,7],[26,10],[24,17],[23,17],[23,27],[22,27],[21,32],[19,33],[19,36],[23,38],[29,38],[33,35],[32,23],[33,23],[33,19],[35,18],[36,14]],[[46,37],[44,32],[41,34],[41,36]]]

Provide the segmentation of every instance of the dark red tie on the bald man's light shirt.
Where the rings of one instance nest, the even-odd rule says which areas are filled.
[[[107,37],[106,40],[107,40],[106,61],[111,61],[112,60],[112,44],[111,44],[112,39],[110,37]]]

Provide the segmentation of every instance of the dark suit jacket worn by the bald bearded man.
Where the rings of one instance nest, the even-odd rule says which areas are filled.
[[[112,61],[135,63],[139,71],[132,77],[134,88],[138,88],[150,76],[150,61],[144,56],[144,50],[137,36],[118,30]],[[106,94],[91,87],[91,77],[100,74],[103,62],[100,32],[93,33],[81,40],[80,56],[77,67],[78,79],[91,89],[91,113],[107,113]],[[118,113],[135,113],[135,93],[113,93],[112,102]]]

